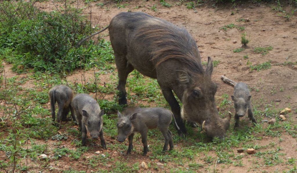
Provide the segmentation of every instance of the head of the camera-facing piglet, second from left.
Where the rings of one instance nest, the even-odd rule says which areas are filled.
[[[83,111],[83,121],[85,122],[85,126],[87,131],[90,133],[92,138],[97,138],[102,129],[102,115],[104,114],[104,110],[100,111]]]

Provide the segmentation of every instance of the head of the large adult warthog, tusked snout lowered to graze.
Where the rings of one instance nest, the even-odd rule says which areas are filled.
[[[203,131],[208,137],[225,137],[230,118],[220,118],[216,108],[214,95],[217,92],[217,84],[211,81],[211,58],[208,57],[204,74],[188,71],[178,73],[179,81],[184,84],[184,93],[181,98],[182,118],[203,125]]]

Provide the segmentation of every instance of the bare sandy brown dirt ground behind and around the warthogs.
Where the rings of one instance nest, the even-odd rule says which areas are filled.
[[[225,75],[229,79],[236,82],[242,81],[249,85],[252,89],[252,102],[263,100],[264,104],[261,109],[264,109],[265,104],[277,102],[277,108],[290,107],[292,110],[297,108],[297,65],[286,64],[285,62],[297,61],[297,16],[291,15],[289,19],[285,13],[274,11],[272,9],[276,4],[253,4],[241,3],[225,4],[220,7],[213,7],[212,4],[205,4],[201,7],[194,9],[187,9],[185,5],[176,5],[180,1],[166,1],[173,6],[170,8],[162,6],[159,1],[123,1],[121,4],[129,4],[124,8],[117,8],[115,1],[97,1],[91,2],[91,7],[83,3],[83,1],[73,2],[76,6],[79,3],[80,8],[84,8],[84,14],[90,16],[94,25],[98,23],[101,28],[107,26],[110,20],[119,12],[142,11],[155,17],[160,17],[168,20],[177,26],[185,27],[187,31],[194,37],[197,42],[198,49],[203,61],[207,61],[210,56],[212,60],[219,61],[219,64],[214,68],[212,80],[217,83],[218,89],[216,95],[223,93],[231,96],[233,94],[233,87],[224,83],[221,76]],[[104,3],[102,7],[96,6],[98,3]],[[157,11],[150,8],[156,5]],[[56,3],[52,1],[44,1],[37,4],[40,9],[51,11],[56,9]],[[62,4],[58,4],[62,5]],[[138,7],[138,8],[136,8]],[[290,12],[293,7],[288,4],[283,4],[282,9]],[[296,9],[296,7],[295,7]],[[233,15],[231,15],[231,13]],[[296,12],[295,12],[296,13]],[[239,18],[246,19],[246,21],[238,21]],[[228,28],[227,31],[220,30],[220,27],[234,23],[238,26],[244,26],[247,37],[250,42],[244,50],[238,53],[233,52],[233,49],[241,48],[241,33],[237,28]],[[108,31],[101,34],[102,38],[109,39]],[[255,53],[253,50],[256,47],[273,47],[267,55]],[[244,55],[248,55],[244,59]],[[256,65],[270,61],[271,68],[266,70],[251,70],[249,65]],[[7,78],[17,75],[9,70],[10,65],[5,66]],[[93,72],[86,72],[85,77],[87,80],[92,79]],[[101,76],[100,83],[103,84],[108,81],[108,75]],[[81,74],[76,71],[67,77],[69,81],[80,81]],[[26,84],[25,87],[30,87]],[[230,99],[231,100],[231,99]],[[234,110],[233,110],[234,112]],[[291,117],[293,122],[297,122],[297,114]],[[247,119],[247,118],[246,118]],[[269,120],[268,117],[264,118]],[[283,135],[284,142],[282,147],[285,148],[285,157],[296,157],[297,151],[296,139],[289,135]],[[107,137],[107,142],[116,142],[114,139]],[[259,145],[267,145],[270,142],[278,143],[277,137],[264,137],[259,141]],[[65,144],[67,145],[67,144]],[[182,144],[179,144],[182,145]],[[141,145],[140,145],[141,146]],[[141,147],[138,148],[138,150]],[[100,150],[100,147],[95,147],[94,152]],[[236,148],[234,148],[236,149]],[[107,150],[110,157],[119,155],[118,151]],[[209,155],[215,153],[209,153]],[[91,154],[90,154],[91,155]],[[86,165],[77,165],[69,162],[68,158],[63,158],[59,161],[59,165],[64,169],[67,167],[77,168],[77,170],[86,170]],[[255,159],[251,156],[244,158],[244,166],[238,167],[232,164],[226,165],[224,168],[218,166],[218,172],[247,172],[247,169],[252,167],[250,159]],[[128,164],[135,162],[149,162],[149,156],[141,156],[140,153],[130,156]],[[155,161],[157,162],[157,161]],[[204,164],[204,162],[197,158],[197,163]],[[51,163],[55,166],[55,163]],[[170,163],[168,163],[170,165]],[[57,166],[56,167],[60,167]],[[172,164],[173,167],[180,167],[179,165]],[[162,167],[162,166],[161,166]],[[211,166],[213,167],[213,166]],[[278,172],[285,170],[285,164],[277,166],[268,166],[259,169],[249,169],[250,172]],[[112,172],[112,168],[107,169]],[[168,169],[160,168],[160,172],[166,172]],[[154,169],[143,170],[140,172],[156,172]],[[201,172],[211,172],[209,169],[203,168]]]

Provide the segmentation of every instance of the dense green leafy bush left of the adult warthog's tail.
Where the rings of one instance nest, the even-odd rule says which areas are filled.
[[[1,9],[15,9],[17,4],[6,3],[0,5]],[[5,7],[6,7],[5,6]],[[31,10],[31,6],[24,6]],[[39,12],[22,20],[23,10],[16,10],[18,23],[2,25],[0,32],[1,49],[14,49],[19,56],[8,56],[7,61],[13,63],[13,69],[21,72],[28,68],[35,71],[72,71],[75,68],[90,68],[93,65],[103,65],[96,62],[95,58],[103,54],[101,59],[113,59],[110,43],[102,40],[95,45],[90,40],[84,47],[74,48],[75,43],[85,35],[89,35],[90,23],[80,16],[78,9],[67,7],[61,12]],[[11,13],[11,12],[7,12]],[[14,17],[14,16],[9,16]],[[4,17],[5,18],[5,17]],[[10,32],[11,31],[11,32]],[[0,54],[2,54],[0,52]]]

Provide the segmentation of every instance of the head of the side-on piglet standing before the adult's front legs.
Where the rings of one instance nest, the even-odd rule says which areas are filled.
[[[130,115],[122,115],[118,111],[119,120],[116,124],[118,127],[118,141],[124,142],[126,138],[133,132],[133,124],[131,121],[135,120],[137,113]]]

